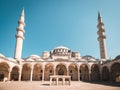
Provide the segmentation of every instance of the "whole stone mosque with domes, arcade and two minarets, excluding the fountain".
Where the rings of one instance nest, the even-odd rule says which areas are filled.
[[[41,56],[22,58],[25,17],[22,10],[18,21],[14,58],[0,54],[0,81],[49,81],[51,75],[71,76],[71,81],[120,82],[120,55],[108,60],[104,23],[98,12],[100,59],[81,56],[68,47],[58,46]]]

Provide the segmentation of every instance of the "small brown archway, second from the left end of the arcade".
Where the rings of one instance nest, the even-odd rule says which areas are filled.
[[[14,66],[11,71],[11,80],[18,81],[19,77],[19,67]]]

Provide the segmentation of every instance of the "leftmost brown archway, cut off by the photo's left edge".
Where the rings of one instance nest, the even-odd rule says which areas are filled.
[[[6,62],[0,63],[0,81],[8,77],[10,66]]]

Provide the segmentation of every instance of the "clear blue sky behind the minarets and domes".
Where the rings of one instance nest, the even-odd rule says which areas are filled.
[[[98,11],[104,22],[107,57],[120,55],[120,0],[0,0],[0,53],[14,58],[18,20],[25,10],[22,58],[57,46],[100,58]]]

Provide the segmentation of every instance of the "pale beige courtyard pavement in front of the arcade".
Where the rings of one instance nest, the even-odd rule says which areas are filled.
[[[0,82],[0,90],[120,90],[120,83],[72,81],[71,85],[50,86],[48,81]]]

